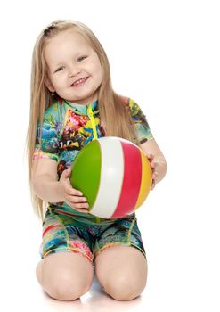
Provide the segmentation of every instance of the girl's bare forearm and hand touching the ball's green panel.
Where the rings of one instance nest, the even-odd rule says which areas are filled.
[[[87,212],[86,198],[82,197],[83,194],[71,186],[70,173],[71,169],[64,170],[58,181],[56,161],[49,159],[34,160],[31,179],[34,192],[43,201],[66,201],[73,209]]]

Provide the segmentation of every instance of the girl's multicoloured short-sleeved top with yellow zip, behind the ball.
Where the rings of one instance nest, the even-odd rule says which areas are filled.
[[[150,127],[143,111],[132,99],[125,98],[134,123],[138,142],[142,144],[152,139]],[[45,158],[57,162],[58,178],[63,170],[70,168],[77,153],[94,138],[104,136],[101,127],[98,102],[80,105],[59,100],[45,110],[43,125],[37,127],[37,143],[34,158]],[[66,202],[49,203],[49,207],[60,209],[66,213],[85,216],[72,209]],[[88,216],[88,215],[86,215]]]

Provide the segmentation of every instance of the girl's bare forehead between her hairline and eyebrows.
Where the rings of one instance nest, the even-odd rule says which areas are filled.
[[[63,30],[48,40],[45,45],[45,59],[48,61],[67,53],[80,53],[86,50],[93,49],[86,42],[85,37],[74,29]]]

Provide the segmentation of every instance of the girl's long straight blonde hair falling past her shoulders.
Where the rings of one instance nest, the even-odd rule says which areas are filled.
[[[27,152],[29,162],[29,187],[34,210],[40,218],[43,218],[44,202],[37,197],[31,187],[32,161],[35,151],[37,122],[42,125],[45,109],[52,105],[54,98],[45,86],[47,70],[45,64],[45,45],[48,40],[59,34],[61,31],[74,29],[82,35],[86,42],[97,53],[103,70],[102,84],[99,87],[98,103],[102,127],[107,136],[119,136],[129,141],[135,142],[134,126],[125,99],[116,94],[111,86],[110,64],[106,53],[97,37],[91,29],[87,28],[78,21],[53,21],[44,29],[39,37],[33,50],[32,70],[31,70],[31,92],[30,92],[30,111],[29,111],[29,128],[27,135]]]

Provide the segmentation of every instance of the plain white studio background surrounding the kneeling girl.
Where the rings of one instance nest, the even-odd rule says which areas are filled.
[[[218,1],[10,1],[1,4],[1,310],[220,310]],[[53,20],[86,23],[109,56],[113,86],[145,112],[167,177],[137,212],[148,254],[139,300],[94,283],[76,302],[51,300],[35,277],[41,224],[30,206],[24,144],[33,45]],[[4,307],[4,308],[3,308]],[[144,310],[145,310],[144,308]]]

